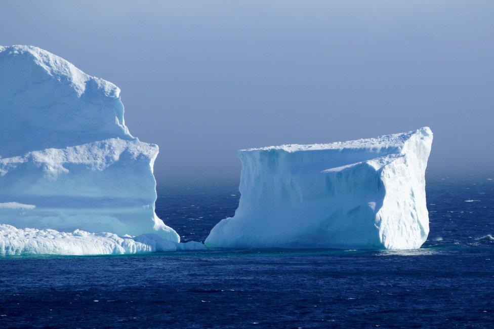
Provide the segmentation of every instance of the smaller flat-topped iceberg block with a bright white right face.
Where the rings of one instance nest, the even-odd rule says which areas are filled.
[[[416,249],[429,234],[428,127],[349,142],[240,150],[238,209],[214,248]]]

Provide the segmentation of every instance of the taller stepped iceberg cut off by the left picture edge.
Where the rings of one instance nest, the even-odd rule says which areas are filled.
[[[45,50],[0,46],[0,254],[177,249],[154,212],[158,146],[130,134],[119,95]],[[156,236],[119,237],[141,234]]]

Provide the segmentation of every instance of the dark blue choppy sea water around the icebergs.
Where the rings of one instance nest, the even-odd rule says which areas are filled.
[[[488,178],[429,179],[431,232],[417,251],[2,258],[0,326],[489,327]],[[158,195],[158,215],[184,241],[203,241],[239,197],[236,182],[163,182]]]

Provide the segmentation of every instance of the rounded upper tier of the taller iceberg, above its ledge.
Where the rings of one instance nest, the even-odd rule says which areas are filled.
[[[112,83],[43,49],[1,47],[0,155],[134,139],[119,95]]]

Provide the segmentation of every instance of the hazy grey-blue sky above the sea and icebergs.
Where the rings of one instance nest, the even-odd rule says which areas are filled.
[[[0,45],[122,90],[158,176],[236,176],[237,149],[430,126],[428,171],[492,172],[492,1],[3,1]]]

